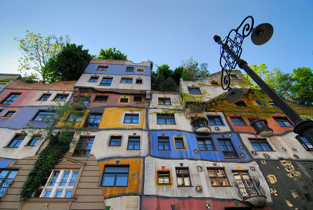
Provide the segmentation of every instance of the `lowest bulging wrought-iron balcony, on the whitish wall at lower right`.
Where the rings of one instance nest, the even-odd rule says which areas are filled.
[[[254,206],[264,206],[266,203],[265,190],[260,186],[256,177],[244,177],[234,182],[238,188],[238,195],[243,198],[244,203]]]

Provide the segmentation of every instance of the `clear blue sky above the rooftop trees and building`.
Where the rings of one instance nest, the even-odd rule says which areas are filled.
[[[186,57],[221,70],[222,39],[248,15],[254,25],[270,23],[272,38],[264,45],[244,40],[241,58],[248,64],[313,68],[313,1],[4,1],[0,0],[0,73],[18,73],[21,51],[13,36],[25,30],[64,35],[90,54],[115,47],[133,62],[150,59],[172,69]],[[156,69],[154,67],[154,69]]]

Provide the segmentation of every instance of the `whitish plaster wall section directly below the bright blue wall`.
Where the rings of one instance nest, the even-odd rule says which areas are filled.
[[[191,177],[192,186],[177,186],[176,177],[176,167],[188,167],[189,174]],[[261,171],[259,170],[258,164],[256,162],[251,163],[222,163],[217,162],[216,168],[224,168],[226,175],[228,177],[229,184],[231,186],[211,186],[210,179],[208,177],[207,167],[214,168],[214,162],[210,161],[194,161],[194,160],[165,160],[156,159],[152,157],[145,158],[145,195],[159,195],[167,197],[214,197],[214,198],[227,198],[227,199],[238,199],[242,200],[238,195],[238,188],[233,186],[236,181],[233,176],[233,170],[243,170],[248,171],[250,176],[257,177],[260,181],[260,186],[266,191],[267,202],[271,202],[269,187],[263,177]],[[157,171],[162,171],[162,167],[169,168],[172,170],[173,183],[168,186],[158,185],[155,179],[151,177],[155,176]],[[198,171],[198,166],[202,167],[202,171]],[[253,167],[252,170],[250,167]],[[148,178],[150,177],[150,178]],[[202,191],[198,192],[196,190],[197,186],[202,187]]]

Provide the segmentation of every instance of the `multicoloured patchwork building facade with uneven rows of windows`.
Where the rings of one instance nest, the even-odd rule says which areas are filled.
[[[150,61],[92,59],[78,81],[8,83],[0,209],[312,209],[312,145],[239,71],[231,86],[244,98],[236,104],[219,77],[181,79],[178,91],[162,92],[151,90]],[[20,189],[48,140],[23,125],[44,127],[58,102],[88,113],[85,132],[24,200]],[[290,104],[313,116],[312,106]]]

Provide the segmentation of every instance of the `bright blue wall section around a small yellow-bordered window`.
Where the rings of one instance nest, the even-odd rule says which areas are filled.
[[[162,133],[164,133],[164,137],[169,137],[170,140],[170,149],[171,150],[158,150],[158,136],[162,137]],[[174,138],[177,137],[177,134],[179,137],[184,137],[185,139],[185,147],[187,149],[176,149]],[[215,149],[218,151],[199,151],[199,153],[194,153],[193,149],[198,149],[198,142],[196,137],[203,137],[198,136],[191,133],[185,133],[185,132],[177,132],[177,131],[162,131],[162,132],[152,132],[152,144],[151,144],[151,155],[153,157],[158,158],[173,158],[173,159],[202,159],[202,160],[210,160],[210,161],[223,161],[223,162],[249,162],[252,161],[252,159],[249,158],[244,144],[242,144],[238,136],[235,134],[231,134],[232,137],[229,137],[228,134],[226,135],[209,135],[206,137],[210,137],[213,140],[213,144],[215,146]],[[225,159],[223,152],[219,146],[218,138],[229,138],[231,139],[231,142],[233,143],[233,146],[240,157],[239,159]],[[242,149],[239,148],[239,146],[242,146]],[[241,156],[241,154],[244,154],[244,157]]]

